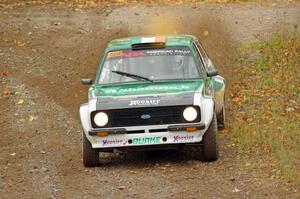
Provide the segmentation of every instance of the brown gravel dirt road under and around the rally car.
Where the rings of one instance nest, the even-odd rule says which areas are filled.
[[[273,178],[271,165],[252,168],[226,130],[214,163],[166,151],[105,154],[102,167],[86,169],[78,109],[87,97],[80,78],[94,77],[113,38],[194,34],[230,85],[233,46],[292,30],[299,10],[300,3],[0,7],[0,198],[296,198],[297,187]]]

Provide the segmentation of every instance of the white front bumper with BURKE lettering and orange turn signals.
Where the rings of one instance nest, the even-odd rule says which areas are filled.
[[[105,132],[107,136],[98,136]],[[205,132],[203,123],[151,125],[126,128],[92,129],[86,132],[92,147],[119,148],[148,145],[199,143]]]

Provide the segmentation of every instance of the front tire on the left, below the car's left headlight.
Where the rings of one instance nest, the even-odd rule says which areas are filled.
[[[85,167],[95,167],[100,165],[99,152],[92,148],[90,141],[82,133],[82,158]]]

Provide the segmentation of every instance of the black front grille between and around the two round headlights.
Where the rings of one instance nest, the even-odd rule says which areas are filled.
[[[200,122],[201,114],[198,106],[193,106],[198,111],[198,117],[196,120],[188,122],[183,118],[182,113],[188,106],[192,105],[112,109],[104,111],[98,110],[91,114],[92,126],[94,128],[98,128],[98,126],[93,122],[94,115],[97,112],[105,112],[108,115],[109,122],[105,126],[106,128]],[[142,119],[142,115],[150,116],[150,118]]]

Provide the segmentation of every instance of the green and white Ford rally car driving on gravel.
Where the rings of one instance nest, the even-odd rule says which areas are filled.
[[[225,126],[225,80],[191,35],[111,41],[100,60],[88,102],[80,106],[83,164],[98,166],[99,152],[199,148],[218,158]]]

